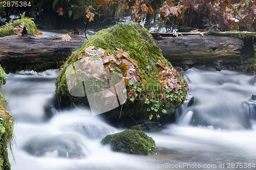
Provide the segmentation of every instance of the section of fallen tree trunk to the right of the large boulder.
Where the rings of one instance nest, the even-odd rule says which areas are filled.
[[[196,65],[250,65],[256,61],[254,32],[152,33],[163,56],[185,69]]]

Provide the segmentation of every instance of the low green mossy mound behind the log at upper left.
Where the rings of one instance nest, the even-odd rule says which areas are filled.
[[[28,34],[34,34],[36,30],[34,21],[29,18],[23,18],[14,20],[7,25],[0,27],[0,37],[21,33],[24,26],[26,27]]]

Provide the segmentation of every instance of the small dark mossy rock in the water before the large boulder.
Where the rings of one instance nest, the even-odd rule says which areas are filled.
[[[107,135],[102,139],[103,144],[110,144],[113,151],[127,154],[147,155],[156,149],[155,141],[142,131],[125,130],[120,133]]]

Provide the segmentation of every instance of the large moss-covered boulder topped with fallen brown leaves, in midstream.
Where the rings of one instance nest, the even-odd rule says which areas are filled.
[[[88,79],[82,80],[84,77]],[[123,84],[117,86],[119,82],[110,77],[119,82],[122,79]],[[104,116],[124,124],[131,117],[141,123],[172,114],[186,99],[188,90],[186,81],[162,56],[152,35],[135,23],[117,23],[96,33],[70,56],[55,85],[60,107],[109,107]],[[89,93],[91,87],[94,89]],[[130,122],[135,125],[135,121]]]

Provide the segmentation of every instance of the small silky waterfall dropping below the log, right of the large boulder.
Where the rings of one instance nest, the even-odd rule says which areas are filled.
[[[252,76],[242,72],[203,71],[191,68],[184,77],[189,99],[176,111],[178,125],[212,126],[215,129],[250,129],[255,105],[245,103],[255,93]]]

